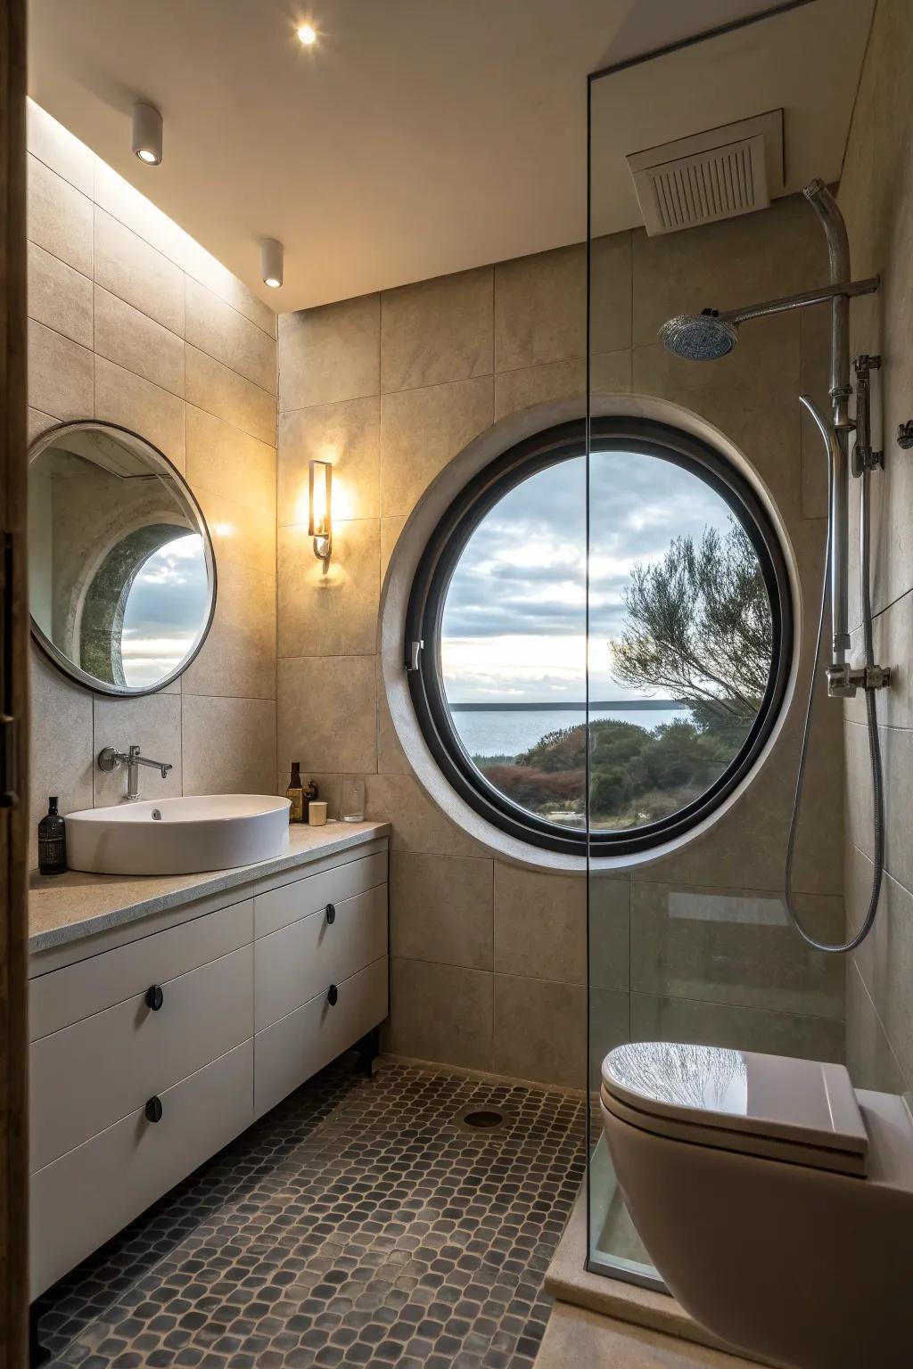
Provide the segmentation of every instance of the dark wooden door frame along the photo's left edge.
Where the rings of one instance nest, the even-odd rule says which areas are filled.
[[[0,3],[0,1364],[29,1361],[26,0]]]

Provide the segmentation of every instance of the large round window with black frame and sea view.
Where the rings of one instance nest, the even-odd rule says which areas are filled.
[[[553,850],[624,854],[687,831],[746,776],[791,637],[783,552],[742,472],[675,427],[605,418],[589,470],[575,420],[450,504],[413,580],[405,658],[467,802]]]

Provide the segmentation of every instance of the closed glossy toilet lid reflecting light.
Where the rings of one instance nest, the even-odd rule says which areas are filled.
[[[631,1042],[605,1057],[602,1084],[649,1131],[671,1135],[671,1124],[678,1124],[698,1143],[715,1144],[710,1134],[724,1135],[731,1150],[865,1170],[868,1136],[843,1065],[723,1046]],[[773,1150],[771,1143],[777,1143]],[[812,1154],[816,1158],[806,1160]]]

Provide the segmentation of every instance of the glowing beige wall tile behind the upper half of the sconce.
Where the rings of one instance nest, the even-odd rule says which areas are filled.
[[[376,396],[279,413],[279,523],[307,523],[309,463],[333,465],[338,519],[376,517],[381,401]]]

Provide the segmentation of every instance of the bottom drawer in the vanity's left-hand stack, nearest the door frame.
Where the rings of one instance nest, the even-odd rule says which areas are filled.
[[[141,1108],[31,1176],[33,1298],[250,1124],[253,1042],[160,1098],[159,1123]]]

